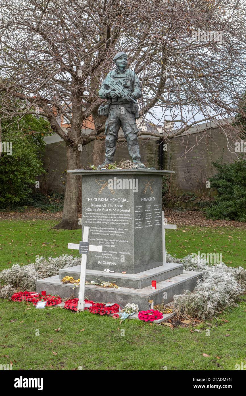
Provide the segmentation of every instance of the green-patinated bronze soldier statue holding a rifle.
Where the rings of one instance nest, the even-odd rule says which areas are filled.
[[[113,61],[116,68],[107,74],[99,90],[100,98],[107,99],[107,104],[101,105],[98,112],[99,115],[107,116],[107,120],[105,122],[105,160],[98,166],[98,169],[113,163],[120,127],[124,132],[133,162],[139,168],[145,168],[141,162],[137,142],[139,131],[136,124],[136,119],[139,118],[137,99],[142,96],[140,80],[133,70],[127,68],[125,52],[116,53]]]

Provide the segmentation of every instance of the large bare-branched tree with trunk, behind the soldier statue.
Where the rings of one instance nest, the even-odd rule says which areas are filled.
[[[101,139],[98,89],[116,51],[127,51],[142,81],[141,116],[195,122],[235,112],[245,78],[243,0],[0,0],[2,117],[43,110],[66,143],[67,169],[80,168],[79,145]],[[203,35],[201,37],[201,34]],[[21,103],[17,109],[11,99]],[[184,107],[189,107],[187,116]],[[65,132],[57,116],[70,124]],[[83,122],[95,129],[86,135]],[[144,132],[143,134],[146,134]],[[159,136],[158,133],[152,133]],[[139,133],[141,135],[141,132]],[[67,175],[62,221],[77,228],[79,176]]]

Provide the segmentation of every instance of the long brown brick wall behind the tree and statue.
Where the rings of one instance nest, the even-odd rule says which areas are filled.
[[[233,145],[233,138],[229,145]],[[81,151],[82,166],[93,163],[92,151],[94,142],[89,143]],[[160,166],[160,141],[158,139],[139,139],[139,148],[142,161],[148,167],[159,169]],[[200,133],[169,139],[167,151],[163,151],[163,169],[175,170],[175,188],[178,192],[197,191],[204,189],[205,181],[214,174],[212,161],[223,154],[225,162],[236,159],[233,149],[228,149],[227,137],[222,129],[211,128]],[[127,143],[117,143],[114,160],[130,160]],[[64,191],[66,182],[66,146],[65,143],[51,143],[45,146],[43,153],[44,167],[49,167],[53,172],[53,191]],[[55,174],[54,174],[55,173]],[[209,189],[205,189],[210,192]]]

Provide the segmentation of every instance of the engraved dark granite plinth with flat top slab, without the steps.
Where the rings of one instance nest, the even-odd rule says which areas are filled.
[[[90,252],[86,268],[137,274],[162,265],[162,185],[170,171],[154,169],[74,170],[82,175],[82,228]]]

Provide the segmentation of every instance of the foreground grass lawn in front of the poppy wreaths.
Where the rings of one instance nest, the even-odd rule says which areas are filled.
[[[119,324],[117,319],[89,312],[26,310],[25,303],[4,302],[0,363],[12,361],[15,370],[80,366],[85,370],[163,370],[164,366],[168,370],[233,370],[235,364],[246,362],[245,307],[221,315],[212,326],[199,325],[196,329],[201,333],[191,333],[189,328],[150,326],[138,320]],[[222,322],[224,318],[228,322]],[[210,329],[209,336],[206,329]]]

